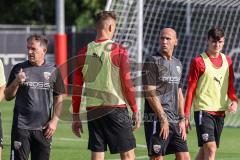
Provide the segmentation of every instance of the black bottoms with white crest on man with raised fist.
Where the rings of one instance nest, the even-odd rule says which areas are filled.
[[[49,160],[51,139],[44,137],[42,130],[13,128],[10,160]]]

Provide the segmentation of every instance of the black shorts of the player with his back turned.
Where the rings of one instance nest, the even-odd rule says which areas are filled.
[[[88,149],[110,153],[127,152],[136,147],[132,121],[127,108],[94,109],[87,112]]]

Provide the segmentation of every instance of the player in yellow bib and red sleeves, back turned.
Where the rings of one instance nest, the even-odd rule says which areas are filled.
[[[83,133],[80,104],[85,96],[88,120],[88,149],[92,160],[104,160],[105,151],[120,154],[121,160],[135,159],[135,137],[140,127],[135,89],[131,80],[127,50],[112,41],[116,14],[102,11],[96,16],[96,39],[82,48],[73,73],[73,133]],[[84,86],[84,90],[83,90]],[[127,107],[135,126],[132,128]]]

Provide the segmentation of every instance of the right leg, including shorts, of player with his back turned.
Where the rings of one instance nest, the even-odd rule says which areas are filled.
[[[104,136],[111,154],[120,153],[121,159],[134,159],[136,140],[127,108],[115,108],[105,117]]]

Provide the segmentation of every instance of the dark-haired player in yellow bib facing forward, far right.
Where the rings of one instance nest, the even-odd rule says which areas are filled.
[[[233,81],[233,64],[221,53],[224,31],[212,28],[208,32],[208,49],[194,58],[188,76],[185,103],[186,126],[189,127],[191,105],[198,136],[197,160],[214,160],[224,125],[225,111],[237,110]]]

